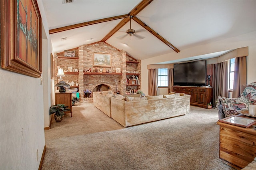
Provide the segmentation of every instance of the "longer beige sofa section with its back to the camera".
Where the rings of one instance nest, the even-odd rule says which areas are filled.
[[[126,97],[127,98],[127,97]],[[186,115],[190,109],[190,95],[162,99],[124,101],[111,98],[111,118],[124,127]]]

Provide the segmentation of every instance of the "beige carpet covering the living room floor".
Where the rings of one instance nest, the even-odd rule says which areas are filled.
[[[218,111],[124,128],[93,104],[45,130],[42,170],[233,170],[219,158]]]

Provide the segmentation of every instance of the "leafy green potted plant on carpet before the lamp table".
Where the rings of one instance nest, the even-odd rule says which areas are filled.
[[[50,107],[50,115],[55,113],[54,119],[56,122],[61,122],[63,120],[64,112],[65,111],[70,111],[70,109],[67,108],[68,106],[64,104],[57,104],[57,105],[52,105]]]

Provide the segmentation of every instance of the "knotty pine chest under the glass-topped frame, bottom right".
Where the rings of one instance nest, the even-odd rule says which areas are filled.
[[[220,125],[220,155],[224,163],[240,170],[256,157],[256,130],[227,123]]]

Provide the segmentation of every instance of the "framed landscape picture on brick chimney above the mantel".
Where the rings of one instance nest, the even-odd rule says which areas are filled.
[[[111,55],[105,53],[93,53],[93,66],[111,67]]]

